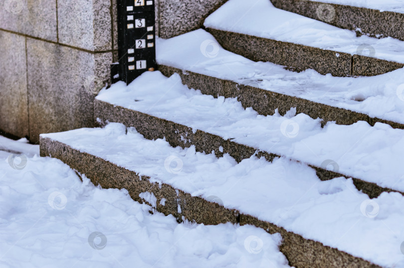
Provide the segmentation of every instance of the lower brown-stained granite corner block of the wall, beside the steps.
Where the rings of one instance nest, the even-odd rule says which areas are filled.
[[[94,96],[109,80],[111,62],[111,52],[92,54],[27,38],[31,142],[40,133],[93,127]]]

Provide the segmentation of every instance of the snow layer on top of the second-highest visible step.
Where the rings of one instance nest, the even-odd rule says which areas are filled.
[[[205,27],[404,63],[404,42],[357,37],[351,30],[278,9],[270,0],[229,0],[209,15]],[[368,48],[368,49],[367,49]]]

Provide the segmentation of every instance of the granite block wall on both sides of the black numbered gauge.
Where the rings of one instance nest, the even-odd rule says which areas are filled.
[[[156,0],[156,33],[202,27],[226,0]],[[93,101],[117,58],[117,0],[0,0],[0,132],[93,127]]]

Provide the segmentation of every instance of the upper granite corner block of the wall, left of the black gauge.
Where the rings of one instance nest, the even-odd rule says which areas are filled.
[[[90,50],[112,49],[111,0],[57,2],[59,42]]]

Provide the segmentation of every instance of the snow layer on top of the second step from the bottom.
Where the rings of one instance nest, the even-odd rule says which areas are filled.
[[[236,99],[202,95],[178,74],[167,78],[160,72],[144,73],[128,87],[115,84],[96,98],[404,192],[404,130],[386,124],[329,122],[321,128],[319,119],[293,109],[262,116]]]

